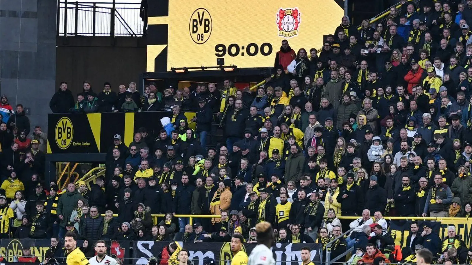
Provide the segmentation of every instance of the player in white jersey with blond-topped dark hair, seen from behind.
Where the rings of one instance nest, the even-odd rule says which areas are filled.
[[[251,251],[247,265],[275,265],[270,247],[275,241],[274,230],[268,222],[256,224],[257,246]]]

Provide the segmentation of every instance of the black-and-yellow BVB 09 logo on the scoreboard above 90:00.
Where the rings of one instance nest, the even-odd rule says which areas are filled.
[[[190,17],[190,37],[196,44],[203,44],[210,38],[213,22],[210,12],[205,8],[198,8]]]

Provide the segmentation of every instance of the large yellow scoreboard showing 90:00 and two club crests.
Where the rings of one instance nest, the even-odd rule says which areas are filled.
[[[147,72],[171,67],[274,65],[281,41],[295,52],[322,46],[344,10],[335,0],[149,2]]]

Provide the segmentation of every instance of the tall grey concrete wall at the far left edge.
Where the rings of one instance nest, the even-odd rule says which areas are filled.
[[[47,128],[56,79],[54,0],[0,0],[1,91],[15,108],[29,108],[34,125]],[[45,130],[44,130],[45,131]]]

